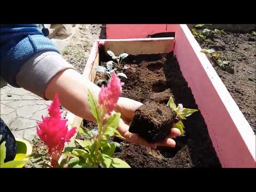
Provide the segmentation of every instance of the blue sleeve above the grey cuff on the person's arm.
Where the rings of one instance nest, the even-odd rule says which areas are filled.
[[[16,76],[22,65],[42,51],[55,51],[57,47],[45,37],[37,24],[0,24],[1,77],[19,87]]]

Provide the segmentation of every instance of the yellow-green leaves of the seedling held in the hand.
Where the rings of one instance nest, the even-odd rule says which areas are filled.
[[[185,126],[182,123],[183,119],[186,119],[186,117],[192,115],[193,113],[195,113],[196,111],[198,111],[197,109],[189,109],[189,108],[185,108],[183,107],[182,104],[178,104],[178,106],[175,105],[173,98],[170,97],[167,106],[171,107],[177,114],[176,119],[177,119],[177,123],[173,124],[173,127],[178,128],[181,132],[181,136],[185,133],[185,131],[183,130],[185,128]]]

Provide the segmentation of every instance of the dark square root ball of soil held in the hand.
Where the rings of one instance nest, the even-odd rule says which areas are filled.
[[[138,133],[148,142],[162,141],[170,133],[175,117],[176,113],[170,107],[146,102],[135,111],[129,131]]]

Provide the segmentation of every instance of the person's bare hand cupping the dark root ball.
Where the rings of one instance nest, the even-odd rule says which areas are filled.
[[[177,137],[180,134],[180,130],[177,128],[170,127],[171,131],[167,137],[160,142],[149,143],[145,139],[139,137],[138,134],[129,132],[129,123],[131,122],[134,111],[143,105],[141,102],[134,101],[132,99],[120,97],[117,102],[117,107],[115,111],[121,113],[121,118],[119,121],[119,126],[117,130],[119,133],[123,135],[126,141],[129,141],[133,144],[140,144],[144,146],[149,146],[151,148],[156,148],[157,146],[167,146],[167,147],[175,147],[175,141],[172,139]]]

